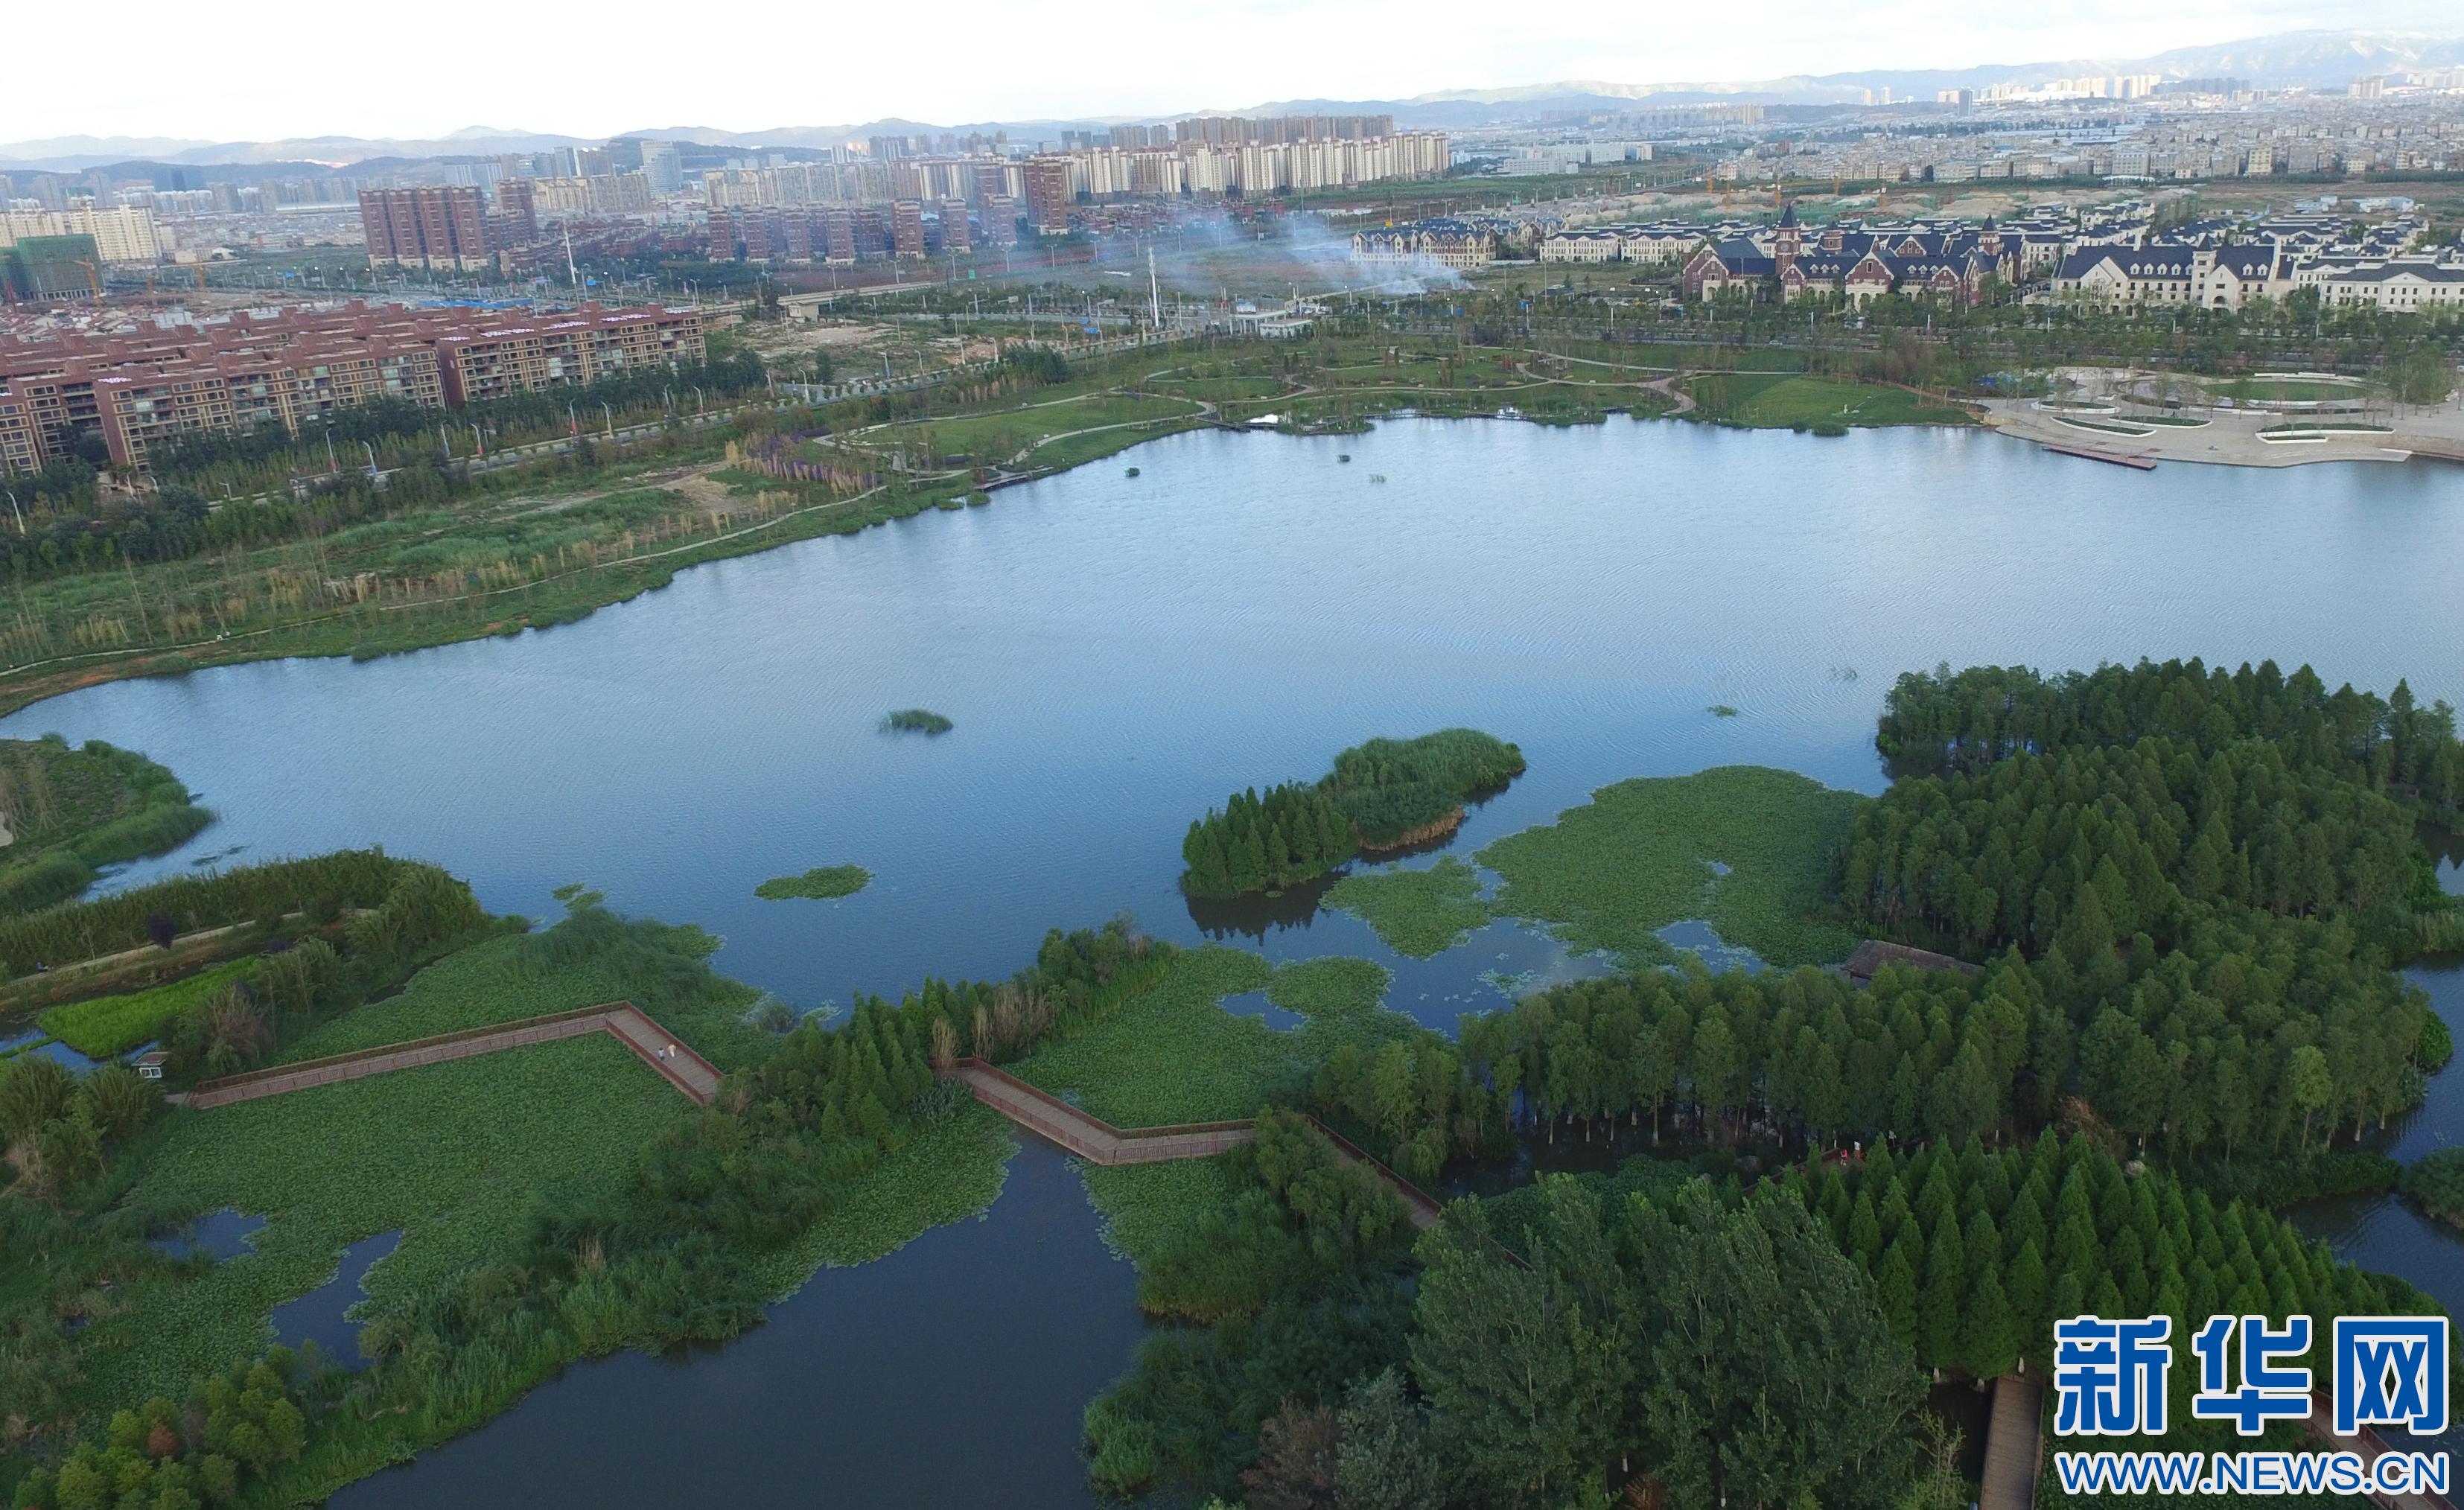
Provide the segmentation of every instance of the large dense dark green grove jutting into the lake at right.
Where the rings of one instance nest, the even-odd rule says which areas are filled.
[[[2454,714],[2309,670],[2141,663],[1907,675],[1878,737],[1915,771],[1850,833],[1868,926],[2025,961],[2117,1128],[2230,1155],[2420,1096],[2430,1012],[2388,966],[2444,936],[2415,818],[2454,815]],[[2264,1123],[2277,1123],[2269,1131]]]

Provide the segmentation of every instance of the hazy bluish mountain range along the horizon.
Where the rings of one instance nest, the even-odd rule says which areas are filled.
[[[1289,99],[1244,108],[1180,111],[1180,116],[1395,116],[1397,126],[1469,128],[1493,121],[1530,118],[1557,111],[1631,111],[1703,101],[1754,103],[1855,103],[1868,89],[1890,89],[1897,99],[1929,101],[1942,89],[1986,89],[1991,84],[2045,84],[2050,79],[2161,74],[2166,79],[2247,79],[2257,89],[2341,89],[2358,74],[2397,74],[2464,64],[2464,30],[2457,32],[2279,32],[2213,47],[2176,47],[2154,57],[2082,57],[2033,64],[1981,64],[1974,69],[1868,69],[1855,74],[1791,74],[1781,79],[1611,84],[1572,79],[1520,84],[1510,89],[1439,89],[1412,99]],[[715,131],[702,126],[648,128],[626,135],[660,135],[717,148],[823,148],[867,135],[939,135],[944,131],[993,133],[1010,140],[1052,140],[1062,131],[1087,131],[1124,121],[1173,116],[1087,116],[1074,121],[978,121],[968,126],[931,126],[924,121],[867,121],[860,126],[779,126],[771,131]],[[357,135],[308,135],[291,140],[187,140],[128,135],[59,135],[47,140],[0,143],[0,170],[34,168],[84,172],[118,165],[286,165],[298,170],[347,168],[377,158],[394,163],[431,163],[439,158],[483,158],[493,153],[540,153],[547,148],[599,145],[599,138],[554,135],[466,126],[431,140],[387,140]]]

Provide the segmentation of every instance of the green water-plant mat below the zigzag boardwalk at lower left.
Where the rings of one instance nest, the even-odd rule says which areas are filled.
[[[542,1192],[606,1205],[633,1155],[690,1104],[606,1035],[399,1069],[175,1113],[131,1200],[266,1217],[249,1254],[140,1281],[96,1323],[99,1402],[177,1399],[264,1350],[266,1315],[325,1283],[342,1249],[402,1229],[367,1276],[372,1308],[508,1251]]]

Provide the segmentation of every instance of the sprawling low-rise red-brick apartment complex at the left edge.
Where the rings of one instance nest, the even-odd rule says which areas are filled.
[[[700,310],[594,303],[411,310],[347,303],[113,335],[0,337],[0,473],[32,473],[99,431],[143,468],[168,436],[281,424],[355,404],[463,406],[705,360]]]

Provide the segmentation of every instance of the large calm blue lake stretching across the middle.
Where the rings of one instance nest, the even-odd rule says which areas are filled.
[[[2422,700],[2464,702],[2459,559],[2464,473],[2434,466],[2131,473],[1979,431],[1816,438],[1624,416],[1200,431],[991,507],[697,567],[554,631],[116,682],[0,719],[0,734],[140,749],[219,813],[123,884],[209,855],[377,842],[468,877],[495,911],[549,916],[554,887],[589,882],[623,911],[700,921],[727,939],[719,968],[801,1007],[926,973],[1005,975],[1047,926],[1126,909],[1175,941],[1382,961],[1400,1010],[1451,1027],[1503,1003],[1483,975],[1597,963],[1515,926],[1400,961],[1306,897],[1193,916],[1175,889],[1188,823],[1227,791],[1313,778],[1370,734],[1446,724],[1530,759],[1456,852],[1626,776],[1749,761],[1873,793],[1882,695],[1939,660],[2306,660],[2328,685],[2412,677]],[[956,727],[880,734],[897,707]],[[843,902],[752,894],[840,862],[870,867],[872,884]],[[2415,1118],[2420,1136],[2459,1133],[2452,1081],[2434,1089],[2444,1111]],[[1010,1219],[1023,1177],[986,1229]],[[1084,1200],[1064,1205],[1094,1242]],[[2373,1246],[2375,1219],[2338,1242],[2437,1288],[2410,1264],[2452,1264],[2454,1249]],[[877,1286],[865,1303],[929,1315],[936,1237],[857,1271]],[[781,1315],[828,1308],[848,1278],[825,1276]],[[1106,1293],[1126,1325],[1084,1328],[1072,1347],[1092,1365],[1074,1379],[1126,1362],[1131,1291]],[[589,1365],[342,1503],[407,1493],[387,1483],[436,1493],[451,1463],[493,1463],[508,1448],[483,1443],[508,1439],[540,1456],[517,1480],[537,1493],[572,1483],[574,1503],[655,1503],[668,1448],[621,1402],[650,1392],[673,1431],[717,1431],[747,1379],[771,1379],[771,1365],[729,1360],[776,1330],[683,1372]],[[872,1461],[890,1451],[877,1421],[825,1394],[838,1367],[813,1355],[781,1384],[806,1392],[796,1441]],[[1027,1362],[968,1352],[936,1367]],[[1069,1387],[1074,1414],[1087,1387]],[[594,1409],[611,1411],[596,1434],[559,1416]],[[456,1485],[485,1483],[466,1473]],[[890,1498],[941,1493],[899,1483]],[[1003,1500],[1072,1505],[1087,1490],[1062,1453],[1023,1458]]]

